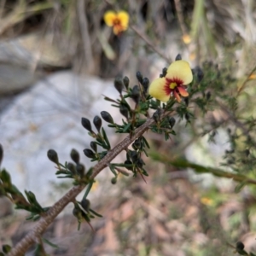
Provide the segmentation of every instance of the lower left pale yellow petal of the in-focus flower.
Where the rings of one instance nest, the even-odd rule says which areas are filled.
[[[170,95],[166,94],[165,91],[166,79],[154,79],[154,81],[150,84],[148,93],[154,98],[160,100],[161,102],[168,102],[170,99]]]

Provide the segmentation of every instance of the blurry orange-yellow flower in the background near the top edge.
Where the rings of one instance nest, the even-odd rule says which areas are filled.
[[[108,11],[104,15],[104,21],[107,26],[113,26],[113,33],[119,35],[127,29],[129,23],[129,15],[125,11]]]

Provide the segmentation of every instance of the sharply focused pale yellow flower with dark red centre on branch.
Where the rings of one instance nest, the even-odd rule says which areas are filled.
[[[181,97],[189,96],[185,89],[193,80],[193,74],[187,61],[174,61],[168,67],[166,77],[154,79],[148,93],[161,102],[168,102],[171,96],[181,102]]]

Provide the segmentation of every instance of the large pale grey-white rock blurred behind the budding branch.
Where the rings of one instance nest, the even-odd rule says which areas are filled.
[[[82,127],[81,117],[92,121],[102,110],[112,113],[114,119],[120,116],[118,109],[104,101],[102,95],[118,97],[112,81],[60,72],[33,85],[3,111],[2,167],[11,173],[13,183],[21,191],[32,190],[43,201],[58,198],[52,194],[50,183],[63,180],[55,177],[55,165],[46,156],[49,148],[56,150],[61,163],[71,161],[70,151],[76,148],[87,169],[95,164],[83,154],[92,139]],[[108,128],[106,122],[102,124]],[[112,141],[114,138],[117,137],[110,137]]]

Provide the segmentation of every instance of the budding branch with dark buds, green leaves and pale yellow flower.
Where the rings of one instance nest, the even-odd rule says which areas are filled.
[[[212,65],[210,67],[212,68]],[[132,174],[133,177],[145,179],[148,172],[143,158],[148,156],[149,148],[149,143],[144,137],[145,131],[159,133],[166,140],[175,136],[174,126],[177,119],[185,119],[187,123],[191,119],[195,119],[195,114],[191,110],[194,108],[189,108],[189,102],[196,105],[201,113],[207,113],[207,110],[212,108],[212,104],[215,102],[212,100],[211,91],[207,91],[207,84],[211,79],[215,80],[216,86],[220,86],[222,83],[219,81],[218,84],[218,77],[216,77],[218,71],[214,69],[215,67],[213,67],[213,71],[211,68],[207,68],[208,71],[205,73],[207,80],[204,81],[204,73],[201,68],[196,67],[192,72],[189,63],[183,61],[181,55],[177,55],[170,67],[164,68],[160,78],[155,79],[151,84],[148,78],[143,77],[140,72],[137,72],[138,84],[134,86],[131,86],[127,77],[114,79],[114,87],[119,92],[119,98],[112,99],[105,96],[104,99],[111,102],[114,108],[119,108],[122,120],[116,122],[107,111],[96,115],[92,122],[84,117],[81,119],[81,124],[91,137],[90,148],[84,148],[84,155],[96,162],[96,165],[86,170],[81,163],[79,152],[75,149],[72,149],[70,154],[73,161],[67,161],[64,164],[60,163],[54,149],[49,149],[47,153],[49,160],[54,162],[57,168],[56,176],[71,178],[74,184],[74,187],[52,207],[42,207],[31,191],[25,191],[25,195],[23,195],[12,183],[9,172],[2,169],[0,172],[0,195],[8,197],[17,209],[30,212],[27,220],[37,221],[37,224],[15,247],[3,246],[3,253],[0,255],[24,255],[33,243],[38,245],[38,253],[45,255],[44,242],[51,243],[43,238],[44,230],[69,202],[73,203],[73,215],[78,219],[79,227],[82,222],[86,222],[93,229],[91,219],[102,217],[101,214],[93,210],[93,202],[87,199],[90,189],[95,183],[96,175],[108,167],[113,173],[112,183],[117,183],[120,174],[124,176]],[[232,102],[231,97],[228,101]],[[116,133],[127,134],[127,137],[118,145],[111,145],[104,129],[105,125],[113,128]],[[2,160],[3,148],[0,149]],[[113,162],[113,159],[122,151],[125,151],[126,154],[124,162]],[[157,160],[157,156],[154,158]],[[161,161],[165,162],[166,160],[161,159]],[[216,176],[228,177],[225,172],[205,170],[202,166],[193,166],[186,161],[172,161],[170,164],[194,168],[195,172],[211,172]],[[234,175],[233,178],[237,181],[249,181],[241,175]],[[85,187],[83,199],[77,201],[76,196]],[[241,243],[236,246],[236,252],[246,253]]]

